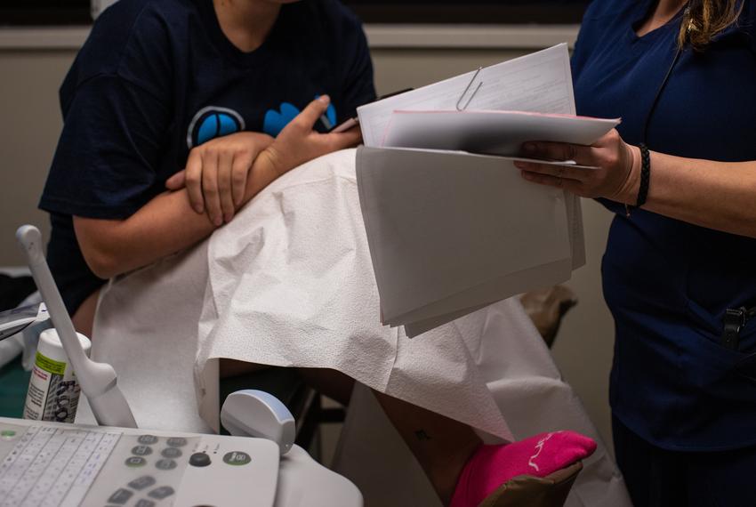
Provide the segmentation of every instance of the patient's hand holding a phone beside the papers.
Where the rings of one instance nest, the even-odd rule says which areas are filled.
[[[318,118],[326,113],[329,102],[327,95],[310,102],[284,127],[276,140],[261,151],[255,165],[266,165],[266,170],[272,170],[277,177],[313,158],[356,146],[362,140],[359,127],[344,133],[318,133],[312,130]]]

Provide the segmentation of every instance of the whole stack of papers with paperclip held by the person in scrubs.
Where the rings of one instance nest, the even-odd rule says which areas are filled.
[[[573,115],[567,44],[358,109],[384,324],[421,334],[583,265],[579,199],[513,165],[524,141],[591,144],[618,123]]]

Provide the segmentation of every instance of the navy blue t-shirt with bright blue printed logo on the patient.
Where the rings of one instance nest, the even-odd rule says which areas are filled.
[[[40,202],[68,311],[103,283],[73,215],[128,218],[165,191],[193,147],[238,131],[276,136],[322,94],[331,124],[375,95],[361,25],[336,0],[282,5],[253,52],[223,35],[212,0],[120,0],[103,12],[60,87],[63,132]]]

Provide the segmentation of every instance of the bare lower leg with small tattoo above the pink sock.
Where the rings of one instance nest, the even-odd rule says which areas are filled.
[[[465,463],[482,441],[467,424],[382,392],[373,392],[441,501],[447,505]]]

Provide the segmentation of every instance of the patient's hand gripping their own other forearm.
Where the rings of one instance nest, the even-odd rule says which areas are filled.
[[[207,215],[216,226],[229,222],[244,204],[247,177],[254,159],[273,138],[264,133],[239,132],[207,141],[189,152],[186,169],[175,173],[165,187],[187,188],[189,202],[197,213]]]

